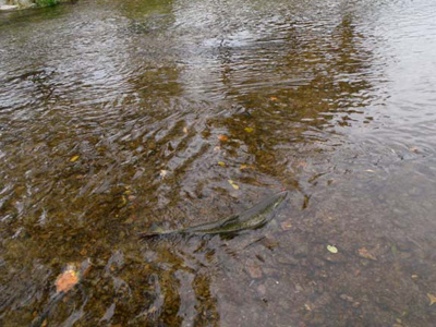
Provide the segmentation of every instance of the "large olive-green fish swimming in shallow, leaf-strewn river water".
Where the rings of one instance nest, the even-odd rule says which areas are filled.
[[[149,238],[168,234],[231,234],[243,230],[261,228],[276,216],[277,208],[287,196],[288,191],[282,191],[241,214],[230,216],[222,220],[173,230],[157,228],[143,232],[140,237]]]

